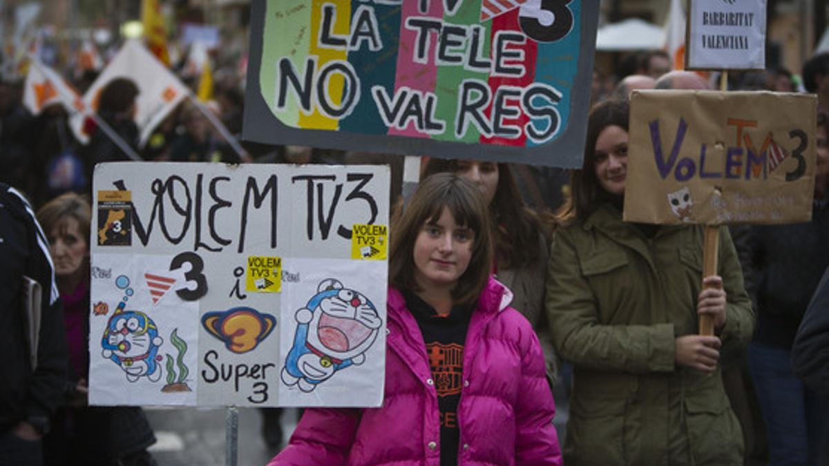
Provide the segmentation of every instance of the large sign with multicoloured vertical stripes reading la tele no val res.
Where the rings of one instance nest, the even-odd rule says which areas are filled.
[[[245,138],[577,167],[597,7],[256,1]]]

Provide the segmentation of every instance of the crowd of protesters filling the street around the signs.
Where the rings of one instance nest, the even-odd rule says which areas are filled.
[[[243,155],[190,102],[141,145],[129,79],[104,87],[98,116],[150,162],[392,164],[400,202],[385,404],[306,410],[272,464],[827,465],[829,54],[807,61],[799,77],[783,68],[730,75],[729,90],[817,94],[812,221],[722,227],[719,269],[704,281],[701,227],[622,221],[630,93],[714,88],[715,76],[670,69],[654,51],[619,61],[612,78],[594,73],[579,170],[425,158],[422,187],[405,200],[399,157],[242,142]],[[206,109],[240,138],[241,79],[220,80],[214,95]],[[17,211],[37,211],[43,226],[68,357],[65,374],[51,373],[63,395],[49,396],[61,399],[40,404],[51,429],[21,430],[23,411],[0,418],[0,464],[19,447],[12,439],[44,434],[48,464],[90,455],[95,464],[154,464],[140,409],[85,405],[91,181],[95,163],[130,158],[95,123],[87,122],[89,143],[79,143],[59,104],[32,115],[21,96],[22,81],[0,83],[0,186],[23,193],[28,204],[14,197]],[[701,315],[715,336],[696,335]],[[467,356],[463,386],[444,393],[429,382],[445,368],[427,348],[446,345]],[[0,402],[16,402],[14,390],[3,385]],[[560,437],[554,391],[555,403],[569,404]],[[278,411],[264,419],[277,453],[286,440]],[[115,423],[133,441],[104,451],[94,426]]]

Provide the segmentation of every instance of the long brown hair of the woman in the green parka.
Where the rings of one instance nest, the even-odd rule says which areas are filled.
[[[630,107],[624,100],[603,100],[590,110],[587,121],[587,140],[584,142],[584,163],[580,170],[570,173],[570,197],[561,206],[556,217],[560,223],[584,220],[601,203],[602,187],[594,169],[596,140],[608,126],[628,131]]]

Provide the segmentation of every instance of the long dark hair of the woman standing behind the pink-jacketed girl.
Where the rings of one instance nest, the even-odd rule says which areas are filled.
[[[440,172],[458,172],[458,161],[430,158],[421,178]],[[526,267],[541,258],[538,234],[540,231],[546,233],[547,229],[521,198],[509,163],[498,163],[498,186],[489,203],[489,215],[499,268]]]

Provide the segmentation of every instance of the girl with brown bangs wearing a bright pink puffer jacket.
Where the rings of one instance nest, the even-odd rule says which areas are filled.
[[[420,184],[392,226],[385,399],[308,409],[269,464],[561,464],[544,356],[489,275],[478,187]]]

